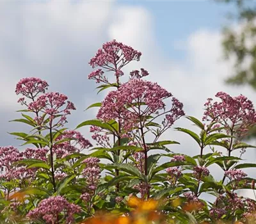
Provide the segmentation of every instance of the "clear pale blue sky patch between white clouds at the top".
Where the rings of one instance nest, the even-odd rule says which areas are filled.
[[[182,60],[185,53],[173,47],[198,29],[220,30],[227,24],[227,13],[236,12],[236,4],[213,0],[118,1],[120,5],[147,8],[154,17],[157,41],[166,56]]]

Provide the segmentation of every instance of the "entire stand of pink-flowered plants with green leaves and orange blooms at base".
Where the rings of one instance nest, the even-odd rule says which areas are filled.
[[[115,74],[115,83],[109,82],[101,69],[90,74],[97,83],[104,82],[98,87],[99,91],[115,90],[109,92],[103,102],[88,107],[100,108],[97,119],[77,125],[77,129],[91,126],[97,147],[90,148],[89,154],[83,150],[92,144],[79,132],[63,127],[74,105],[63,95],[45,93],[43,87],[47,85],[42,87],[38,79],[20,81],[17,93],[31,102],[19,100],[27,109],[22,111],[21,119],[14,121],[29,125],[31,132],[11,134],[34,148],[20,154],[12,147],[0,148],[2,152],[11,153],[0,155],[3,171],[0,177],[1,223],[157,223],[157,219],[158,223],[254,223],[255,200],[236,194],[241,189],[254,189],[255,183],[241,169],[253,168],[256,164],[240,163],[244,150],[253,147],[241,141],[241,132],[246,131],[244,125],[255,123],[248,123],[256,118],[250,102],[241,101],[246,107],[238,107],[241,116],[237,113],[231,123],[225,109],[228,103],[232,106],[236,103],[237,109],[241,98],[225,96],[227,108],[222,108],[218,116],[212,108],[218,106],[220,111],[222,104],[208,102],[205,113],[208,125],[186,116],[198,127],[199,134],[184,128],[176,130],[195,140],[198,154],[191,157],[173,153],[168,145],[179,143],[160,138],[184,115],[182,104],[173,97],[171,109],[166,109],[163,100],[172,94],[157,84],[143,81],[148,75],[143,68],[141,73],[132,71],[127,83],[120,81],[124,75],[121,68],[140,60],[140,56],[140,52],[114,40],[104,44],[90,61],[92,67]],[[129,84],[140,88],[132,89]],[[126,96],[120,94],[130,89],[133,91]],[[105,110],[103,116],[106,103],[113,107]],[[250,116],[247,116],[248,108]],[[227,156],[217,152],[216,146],[225,148]],[[212,152],[204,154],[206,147]],[[241,156],[232,156],[239,149]],[[41,157],[38,152],[42,152]],[[162,158],[165,163],[159,163]],[[220,180],[209,172],[211,166],[223,170]],[[215,202],[208,202],[204,195],[214,196]],[[159,200],[157,211],[156,201]],[[135,212],[134,207],[137,207]],[[100,211],[116,214],[118,218],[99,216],[100,220],[107,218],[105,222],[99,222],[98,216],[91,218]],[[134,216],[142,222],[132,220]]]

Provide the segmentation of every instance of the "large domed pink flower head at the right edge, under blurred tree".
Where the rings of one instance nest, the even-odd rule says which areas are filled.
[[[219,122],[228,132],[231,129],[236,130],[236,134],[243,137],[248,128],[256,123],[256,112],[252,101],[243,95],[231,97],[223,92],[218,92],[215,96],[220,98],[221,102],[212,103],[212,99],[209,98],[204,104],[203,120]]]

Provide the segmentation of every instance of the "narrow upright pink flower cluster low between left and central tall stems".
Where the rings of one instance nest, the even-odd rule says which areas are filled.
[[[99,167],[100,160],[96,157],[89,157],[84,159],[83,163],[86,164],[82,175],[84,179],[86,179],[86,185],[88,191],[94,193],[97,189],[100,179],[100,167]]]

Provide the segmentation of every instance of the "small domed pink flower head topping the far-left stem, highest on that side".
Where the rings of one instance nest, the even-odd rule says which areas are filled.
[[[42,79],[27,77],[20,79],[19,83],[16,85],[15,93],[17,95],[22,94],[29,99],[34,99],[38,93],[45,93],[48,86],[48,83]]]

